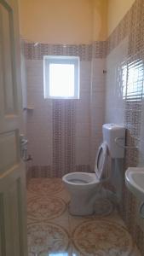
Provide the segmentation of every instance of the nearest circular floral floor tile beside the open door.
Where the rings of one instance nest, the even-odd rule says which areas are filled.
[[[69,236],[66,230],[58,224],[29,224],[27,234],[29,253],[37,255],[60,253],[61,251],[66,251],[69,246]]]

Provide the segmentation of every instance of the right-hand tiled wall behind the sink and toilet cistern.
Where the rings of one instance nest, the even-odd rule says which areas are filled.
[[[107,40],[106,122],[127,128],[125,160],[128,166],[144,163],[144,2],[136,0]],[[117,184],[115,186],[117,188]],[[138,213],[140,202],[125,187],[120,212],[144,255],[144,222]]]

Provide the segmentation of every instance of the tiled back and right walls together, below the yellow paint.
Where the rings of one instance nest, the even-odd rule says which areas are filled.
[[[66,172],[93,170],[102,123],[124,124],[126,144],[136,148],[125,151],[120,212],[141,255],[144,255],[144,223],[138,214],[139,202],[124,185],[124,172],[128,166],[144,164],[143,27],[144,1],[135,0],[107,42],[66,47],[49,44],[34,47],[33,43],[26,43],[25,48],[28,104],[34,107],[27,113],[32,175],[60,177]],[[49,54],[80,56],[79,101],[43,99],[43,55]],[[105,69],[107,73],[103,73]]]

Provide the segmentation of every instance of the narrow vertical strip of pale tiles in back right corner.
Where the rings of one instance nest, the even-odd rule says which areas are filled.
[[[95,155],[102,141],[104,123],[106,59],[92,58],[90,89],[90,166],[94,170]]]

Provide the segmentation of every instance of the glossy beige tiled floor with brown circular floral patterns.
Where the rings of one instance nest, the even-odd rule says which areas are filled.
[[[29,256],[140,256],[113,209],[103,216],[74,217],[60,178],[33,178],[27,189]],[[104,200],[97,207],[110,209]]]

